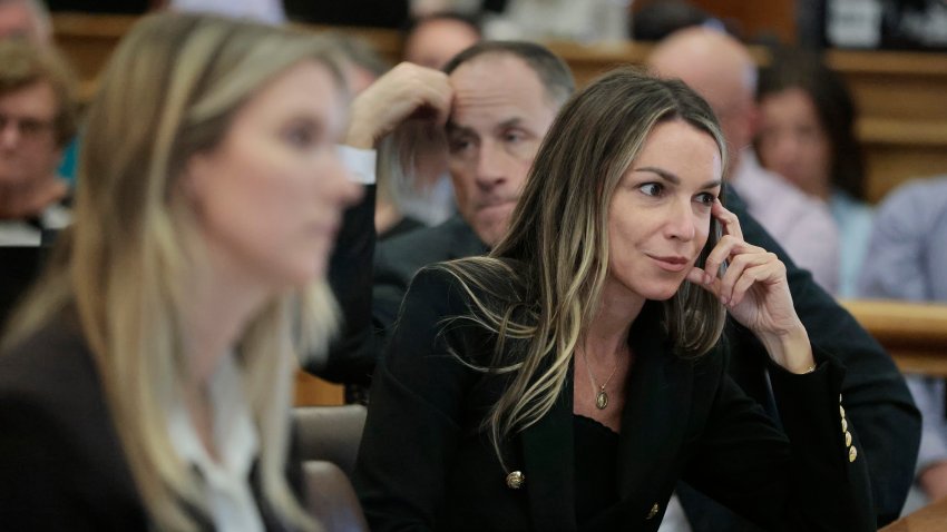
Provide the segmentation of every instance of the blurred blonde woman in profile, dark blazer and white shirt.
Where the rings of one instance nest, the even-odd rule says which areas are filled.
[[[315,526],[286,480],[291,383],[335,328],[326,260],[360,195],[331,57],[198,16],[124,39],[75,226],[3,339],[0,528]]]

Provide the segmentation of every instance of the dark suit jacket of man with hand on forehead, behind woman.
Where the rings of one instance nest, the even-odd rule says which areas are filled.
[[[792,263],[746,213],[736,194],[728,188],[725,195],[728,208],[740,218],[746,242],[775,253],[785,263],[797,313],[813,345],[820,346],[847,368],[842,383],[846,411],[859,430],[860,452],[868,462],[872,479],[878,523],[894,521],[912,482],[920,443],[920,414],[901,374],[855,318],[822,290],[808,272]],[[333,352],[324,375],[341,382],[367,382],[391,334],[414,274],[428,264],[485,252],[487,247],[459,217],[379,245],[374,259],[371,313],[365,313],[371,315],[372,324],[361,327],[361,332],[357,333],[361,337],[348,344],[346,349]],[[364,285],[355,288],[355,292],[367,290]],[[726,337],[732,345],[731,375],[760,404],[771,404],[765,349],[752,333],[733,324],[729,324]],[[695,532],[721,530],[713,521],[695,522],[694,526]]]

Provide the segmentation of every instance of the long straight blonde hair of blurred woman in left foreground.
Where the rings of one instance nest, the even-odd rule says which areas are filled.
[[[88,114],[75,226],[60,236],[41,284],[11,324],[10,344],[75,307],[147,512],[160,530],[196,530],[206,510],[174,452],[166,411],[182,386],[185,280],[205,257],[179,178],[213,149],[266,83],[305,61],[326,67],[311,35],[207,16],[146,17],[123,40]],[[257,426],[265,502],[312,529],[285,479],[292,376],[299,353],[325,349],[336,327],[324,279],[274,297],[236,346]]]

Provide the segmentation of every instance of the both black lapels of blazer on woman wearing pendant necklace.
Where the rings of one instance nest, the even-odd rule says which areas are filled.
[[[657,502],[655,487],[674,477],[681,465],[678,450],[693,392],[691,363],[670,353],[662,333],[661,312],[660,303],[647,303],[632,328],[635,361],[627,383],[618,444],[619,504],[632,504],[635,508],[626,510],[641,513],[642,519]],[[573,370],[569,368],[563,393],[549,413],[519,439],[535,530],[577,530]]]

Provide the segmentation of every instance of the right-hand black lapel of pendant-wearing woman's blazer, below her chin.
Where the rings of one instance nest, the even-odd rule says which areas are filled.
[[[691,363],[670,352],[661,313],[658,303],[647,303],[632,328],[635,361],[618,444],[621,499],[646,509],[658,502],[654,490],[680,469],[693,393]]]

